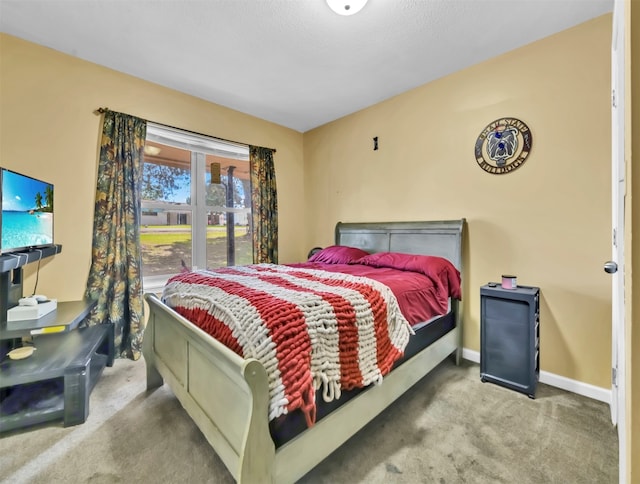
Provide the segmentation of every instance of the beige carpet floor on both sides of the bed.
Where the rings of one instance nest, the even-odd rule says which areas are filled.
[[[546,385],[531,400],[447,361],[301,482],[613,484],[617,462],[607,405]],[[147,394],[144,362],[128,360],[105,369],[84,424],[2,435],[0,479],[233,482],[166,385]]]

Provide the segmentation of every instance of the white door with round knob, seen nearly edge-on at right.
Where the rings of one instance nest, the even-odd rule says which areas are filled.
[[[611,48],[611,256],[605,271],[612,287],[611,420],[618,427],[619,477],[625,482],[625,331],[624,331],[624,0],[614,1]]]

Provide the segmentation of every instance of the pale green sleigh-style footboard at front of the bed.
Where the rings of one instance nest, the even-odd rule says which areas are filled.
[[[178,313],[146,294],[149,319],[143,354],[147,389],[166,380],[237,482],[273,475],[268,378]]]

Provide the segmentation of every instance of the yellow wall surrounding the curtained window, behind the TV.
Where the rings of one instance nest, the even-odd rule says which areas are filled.
[[[301,133],[5,34],[0,35],[0,59],[0,165],[55,186],[55,240],[63,248],[43,262],[38,293],[61,301],[84,293],[102,130],[101,117],[94,114],[99,107],[276,148],[280,259],[302,256]],[[35,266],[25,271],[25,292],[33,290]]]

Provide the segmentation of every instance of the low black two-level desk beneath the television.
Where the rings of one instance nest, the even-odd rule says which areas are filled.
[[[114,358],[113,324],[73,329],[93,305],[60,303],[56,310],[60,319],[51,324],[65,326],[64,331],[34,336],[36,350],[28,358],[0,362],[0,432],[57,419],[63,419],[65,427],[86,420],[89,395]],[[25,324],[20,331],[28,335],[40,327]],[[0,335],[16,338],[15,331],[8,330],[5,322]]]

